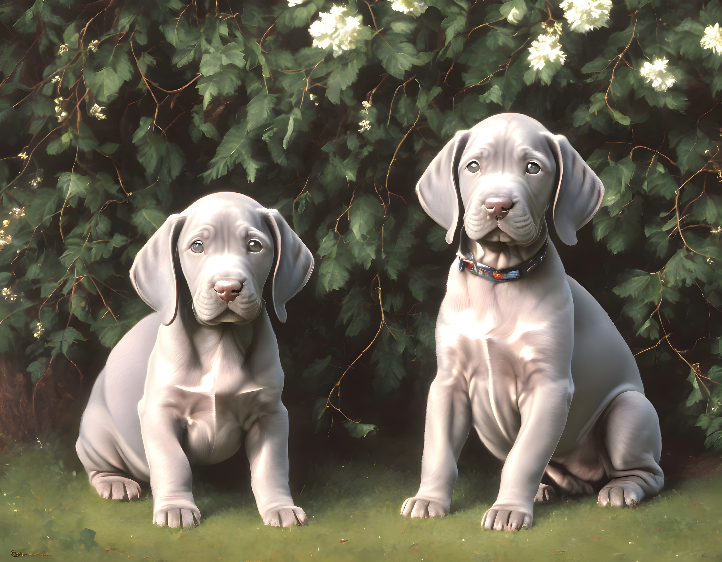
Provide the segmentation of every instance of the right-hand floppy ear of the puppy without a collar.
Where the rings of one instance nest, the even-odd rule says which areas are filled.
[[[276,209],[258,209],[275,241],[273,272],[273,308],[276,316],[285,322],[288,314],[286,303],[303,289],[313,272],[313,254],[298,235],[291,230]]]

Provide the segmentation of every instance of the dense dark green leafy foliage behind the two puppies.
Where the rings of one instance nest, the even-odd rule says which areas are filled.
[[[314,252],[295,336],[279,338],[284,368],[318,397],[319,430],[335,415],[363,436],[363,412],[340,409],[349,366],[373,370],[382,395],[434,369],[453,249],[414,183],[455,131],[518,111],[589,155],[606,187],[594,238],[629,256],[609,272],[625,336],[651,340],[661,368],[687,364],[687,407],[721,447],[722,55],[700,46],[718,0],[618,2],[586,35],[543,0],[428,4],[418,17],[349,4],[365,33],[339,56],[311,45],[323,0],[4,5],[0,351],[35,383],[58,354],[82,362],[89,339],[114,345],[149,312],[127,280],[144,241],[170,212],[235,189]],[[531,69],[531,41],[556,20],[565,63]],[[653,58],[676,79],[664,92],[639,72]],[[682,350],[700,299],[709,326]]]

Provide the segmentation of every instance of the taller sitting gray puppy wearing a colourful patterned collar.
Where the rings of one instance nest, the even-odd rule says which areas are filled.
[[[487,529],[531,527],[554,488],[635,506],[664,484],[661,434],[635,359],[594,298],[565,274],[544,212],[567,245],[604,186],[566,137],[519,113],[458,131],[417,195],[461,247],[436,324],[438,373],[426,413],[421,486],[401,514],[448,513],[471,425],[503,459]]]

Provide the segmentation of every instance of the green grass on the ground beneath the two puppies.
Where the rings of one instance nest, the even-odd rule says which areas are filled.
[[[231,490],[194,486],[199,527],[161,529],[145,488],[139,501],[104,500],[73,455],[52,443],[14,444],[0,454],[0,560],[11,550],[77,561],[722,559],[720,475],[688,480],[636,509],[600,508],[592,497],[536,504],[531,530],[495,532],[479,522],[498,475],[462,470],[449,516],[405,519],[399,508],[418,475],[365,460],[322,467],[318,483],[292,490],[308,527],[264,527],[242,476]]]

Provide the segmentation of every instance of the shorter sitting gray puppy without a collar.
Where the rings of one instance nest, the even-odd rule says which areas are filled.
[[[308,523],[288,487],[284,376],[261,298],[271,269],[284,322],[313,256],[276,209],[232,192],[170,215],[139,251],[131,281],[157,312],[113,347],[76,444],[100,496],[137,499],[149,481],[153,522],[192,525],[191,464],[221,462],[245,441],[264,523]]]

